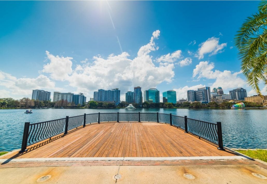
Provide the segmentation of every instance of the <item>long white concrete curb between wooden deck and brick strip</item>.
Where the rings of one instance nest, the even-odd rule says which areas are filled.
[[[89,160],[229,160],[244,159],[243,156],[203,156],[203,157],[71,157],[71,158],[9,158],[0,162],[31,162],[31,161],[89,161]]]

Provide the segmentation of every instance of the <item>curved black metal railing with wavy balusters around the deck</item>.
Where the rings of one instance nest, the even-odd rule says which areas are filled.
[[[185,133],[192,133],[218,144],[218,149],[223,149],[221,122],[209,123],[201,120],[187,118],[187,116],[176,116],[163,113],[95,113],[80,116],[66,116],[66,118],[56,119],[40,123],[25,123],[22,146],[20,152],[27,150],[27,146],[39,141],[48,139],[61,133],[67,134],[69,130],[85,127],[86,124],[100,122],[160,122],[168,123],[171,126],[179,127]]]

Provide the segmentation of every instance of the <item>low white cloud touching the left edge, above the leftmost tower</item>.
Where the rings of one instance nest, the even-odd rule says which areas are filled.
[[[60,90],[55,87],[55,82],[44,75],[37,78],[16,78],[2,71],[0,71],[0,86],[5,88],[2,93],[8,91],[17,98],[30,97],[33,89]]]

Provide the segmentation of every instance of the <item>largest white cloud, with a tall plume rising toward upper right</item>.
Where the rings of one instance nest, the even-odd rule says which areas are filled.
[[[154,42],[158,39],[160,31],[154,31],[150,42],[142,46],[135,58],[129,59],[129,54],[123,52],[120,55],[111,54],[107,58],[100,55],[93,57],[93,62],[84,65],[76,65],[71,70],[72,58],[58,57],[49,54],[50,62],[45,66],[50,66],[56,60],[57,66],[64,67],[64,63],[68,63],[68,69],[60,76],[57,70],[52,70],[51,77],[57,80],[66,80],[69,86],[75,87],[77,92],[83,92],[86,96],[92,96],[93,91],[97,89],[119,88],[121,90],[121,100],[124,100],[124,93],[129,89],[133,90],[135,86],[141,86],[142,90],[156,87],[162,82],[171,82],[174,77],[174,64],[171,60],[180,57],[180,51],[161,56],[162,65],[155,66],[151,51],[158,49]],[[170,58],[169,58],[170,57]],[[163,59],[164,58],[164,59]],[[51,67],[52,68],[52,67]],[[47,71],[47,70],[45,70]]]

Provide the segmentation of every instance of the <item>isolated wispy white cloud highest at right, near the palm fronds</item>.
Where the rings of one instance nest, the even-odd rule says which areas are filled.
[[[210,53],[209,56],[215,55],[218,52],[221,53],[226,45],[227,43],[219,44],[219,38],[211,37],[199,45],[201,47],[198,48],[198,54],[195,56],[198,57],[198,59],[202,59],[204,58],[204,54],[207,53]]]

